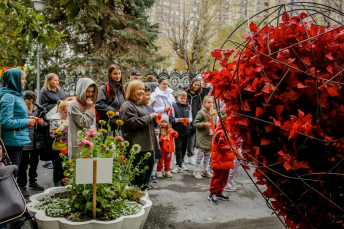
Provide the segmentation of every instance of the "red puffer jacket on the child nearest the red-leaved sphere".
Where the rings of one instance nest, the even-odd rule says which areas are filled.
[[[233,143],[232,146],[235,147]],[[217,130],[211,147],[211,168],[234,169],[234,157],[223,130]]]

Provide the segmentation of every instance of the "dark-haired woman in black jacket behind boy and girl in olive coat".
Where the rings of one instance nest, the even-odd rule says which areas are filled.
[[[202,109],[202,87],[201,87],[201,80],[200,79],[193,79],[190,83],[188,89],[185,90],[188,93],[188,104],[191,106],[192,112],[192,120],[195,120],[198,111]],[[188,145],[187,145],[187,156],[188,162],[190,164],[195,164],[194,159],[194,149],[195,149],[195,137],[196,137],[196,128],[191,125],[190,135],[188,138]]]

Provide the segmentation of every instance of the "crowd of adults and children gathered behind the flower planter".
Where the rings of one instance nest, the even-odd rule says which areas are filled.
[[[211,203],[228,200],[223,191],[237,189],[233,177],[239,161],[233,152],[235,145],[229,144],[213,109],[214,98],[208,95],[211,87],[195,78],[189,87],[175,92],[167,78],[160,77],[156,82],[151,72],[143,82],[141,73],[133,70],[126,84],[121,73],[120,66],[113,64],[108,69],[107,82],[102,85],[81,78],[75,96],[68,98],[54,73],[45,77],[39,98],[32,91],[23,91],[24,71],[13,68],[4,73],[4,87],[0,89],[1,138],[10,160],[19,167],[14,176],[22,194],[29,195],[27,187],[44,190],[37,183],[39,160],[44,161],[44,167],[53,169],[54,186],[62,186],[60,152],[68,149],[69,158],[76,159],[78,131],[97,129],[97,118],[108,121],[107,112],[112,111],[115,117],[109,123],[111,130],[118,129],[129,147],[141,146],[134,166],[138,164],[140,169],[148,166],[132,185],[142,190],[152,189],[151,183],[188,171],[185,164],[190,163],[195,165],[192,173],[195,179],[211,178],[208,196]],[[228,118],[224,109],[221,116]],[[123,125],[116,124],[118,119]],[[114,134],[112,131],[105,135]],[[147,152],[151,157],[139,163]],[[176,160],[171,169],[173,154]]]

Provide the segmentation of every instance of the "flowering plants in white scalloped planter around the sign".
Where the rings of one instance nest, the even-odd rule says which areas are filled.
[[[108,112],[112,118],[113,112]],[[110,121],[110,119],[109,119]],[[122,120],[117,120],[119,125]],[[68,152],[61,151],[67,186],[47,189],[44,193],[32,196],[29,204],[31,211],[36,212],[36,220],[41,228],[141,228],[147,218],[152,202],[139,187],[133,187],[131,181],[145,169],[133,166],[135,154],[140,152],[139,145],[127,150],[129,143],[119,136],[104,134],[111,131],[109,123],[99,121],[100,129],[84,129],[78,132],[78,159],[112,158],[113,181],[108,184],[97,184],[96,219],[92,219],[93,185],[76,184],[76,162],[69,160]],[[103,126],[107,126],[107,130]],[[150,157],[147,153],[139,164]]]

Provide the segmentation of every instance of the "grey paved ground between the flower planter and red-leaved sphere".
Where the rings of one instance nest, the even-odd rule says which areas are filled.
[[[195,166],[187,167],[189,171],[159,180],[148,191],[153,207],[144,229],[284,228],[276,216],[271,216],[272,211],[241,168],[236,177],[239,189],[227,193],[230,201],[212,205],[206,199],[210,179],[194,179]],[[38,183],[47,188],[53,185],[52,170],[42,168],[42,162],[38,167]],[[30,191],[35,193],[38,192]]]

